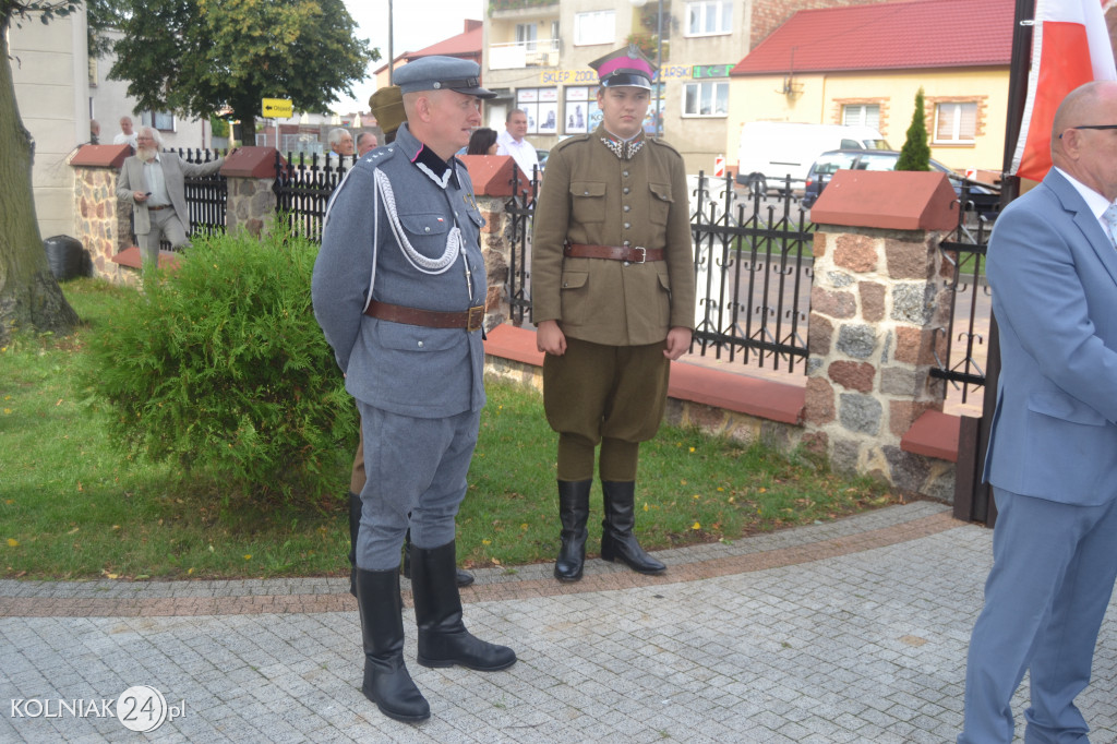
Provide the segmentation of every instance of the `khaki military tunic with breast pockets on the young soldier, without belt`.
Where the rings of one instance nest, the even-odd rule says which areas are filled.
[[[532,319],[611,346],[663,341],[694,328],[695,268],[682,156],[647,140],[628,161],[598,127],[555,145],[535,206]],[[642,136],[642,135],[641,135]],[[564,258],[563,242],[666,249],[647,264]]]

